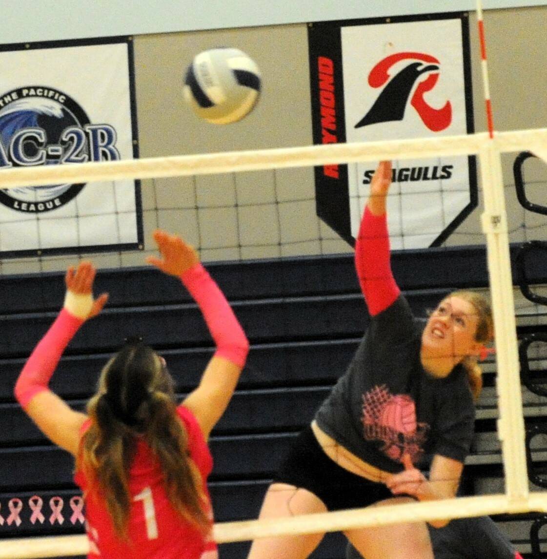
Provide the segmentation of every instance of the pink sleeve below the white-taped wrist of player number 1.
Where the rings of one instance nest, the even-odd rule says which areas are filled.
[[[15,384],[15,397],[23,408],[36,394],[48,390],[47,385],[64,349],[83,323],[82,319],[76,318],[66,309],[61,310],[34,348]]]

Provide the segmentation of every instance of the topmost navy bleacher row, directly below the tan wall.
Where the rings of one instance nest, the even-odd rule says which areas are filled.
[[[520,245],[511,246],[513,264]],[[392,268],[405,290],[485,287],[488,285],[484,247],[447,247],[394,251]],[[279,258],[248,262],[207,264],[229,299],[298,297],[358,290],[353,256]],[[454,273],[457,271],[458,273]],[[529,263],[531,283],[547,281],[547,264]],[[55,311],[63,304],[64,273],[17,274],[0,277],[3,313]],[[514,277],[514,274],[513,274]],[[111,306],[148,306],[190,301],[175,278],[151,267],[99,270],[97,292],[111,294]]]

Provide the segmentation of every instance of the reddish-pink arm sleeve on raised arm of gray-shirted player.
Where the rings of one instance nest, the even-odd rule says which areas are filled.
[[[365,207],[355,241],[355,268],[370,315],[386,310],[401,290],[389,263],[389,234],[386,214],[374,215]]]

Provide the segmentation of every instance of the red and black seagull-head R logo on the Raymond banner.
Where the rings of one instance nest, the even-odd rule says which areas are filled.
[[[404,66],[393,77],[389,70],[402,60],[413,60]],[[452,122],[452,105],[446,101],[439,109],[431,107],[424,95],[431,91],[439,80],[440,62],[435,56],[425,53],[396,53],[380,60],[368,75],[370,87],[382,89],[377,100],[367,114],[355,125],[355,128],[378,124],[379,122],[401,121],[410,98],[422,122],[432,132],[440,132],[448,128]],[[422,75],[427,78],[422,79]],[[391,79],[390,79],[391,78]],[[421,80],[416,86],[416,82]],[[413,93],[412,93],[413,91]]]

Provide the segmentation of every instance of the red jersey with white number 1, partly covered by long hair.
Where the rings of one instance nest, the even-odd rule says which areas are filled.
[[[177,412],[188,433],[188,449],[201,473],[203,491],[210,500],[207,476],[213,467],[211,453],[191,411],[179,406]],[[89,422],[84,424],[84,430],[88,427]],[[74,481],[85,494],[87,480],[82,471],[75,473]],[[106,504],[98,506],[95,500],[85,503],[89,559],[217,559],[216,543],[204,538],[169,503],[163,472],[144,440],[137,442],[129,489],[132,504],[128,541],[116,536]]]

